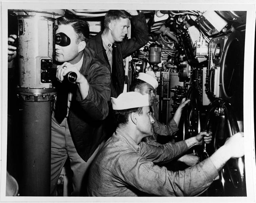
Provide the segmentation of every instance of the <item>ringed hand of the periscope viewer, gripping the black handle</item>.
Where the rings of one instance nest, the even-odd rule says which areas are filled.
[[[84,78],[84,76],[79,72],[79,70],[71,63],[64,62],[62,65],[57,65],[56,78],[58,81],[62,82],[64,76],[69,72],[74,72],[77,75],[76,83],[80,83]]]

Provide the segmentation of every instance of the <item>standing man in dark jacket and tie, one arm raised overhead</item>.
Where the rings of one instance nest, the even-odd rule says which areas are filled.
[[[133,25],[133,36],[125,39],[130,26]],[[109,10],[104,19],[104,31],[92,37],[87,46],[96,56],[103,60],[111,73],[111,97],[117,97],[124,90],[125,68],[123,59],[148,42],[148,27],[143,13],[136,10]],[[109,102],[109,115],[105,120],[105,131],[108,137],[115,130],[112,105]]]

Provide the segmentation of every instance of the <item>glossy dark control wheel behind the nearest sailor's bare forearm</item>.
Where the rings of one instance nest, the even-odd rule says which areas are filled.
[[[214,130],[214,149],[211,152],[208,151],[208,154],[211,155],[225,143],[228,137],[239,132],[238,123],[231,104],[224,99],[216,99],[211,104],[203,130]],[[204,158],[207,157],[202,157],[202,159]],[[228,160],[219,171],[219,181],[224,196],[228,196],[230,192],[233,192],[232,196],[246,196],[244,157]]]

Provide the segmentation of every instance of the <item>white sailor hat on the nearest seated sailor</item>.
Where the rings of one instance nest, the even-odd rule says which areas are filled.
[[[114,110],[149,106],[148,94],[142,95],[138,92],[121,93],[117,98],[111,97],[111,102]]]

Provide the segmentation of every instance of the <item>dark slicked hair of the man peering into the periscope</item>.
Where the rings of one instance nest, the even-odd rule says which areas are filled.
[[[57,18],[58,25],[71,25],[77,35],[76,42],[87,41],[89,39],[90,29],[89,24],[85,20],[70,14],[65,14]]]

